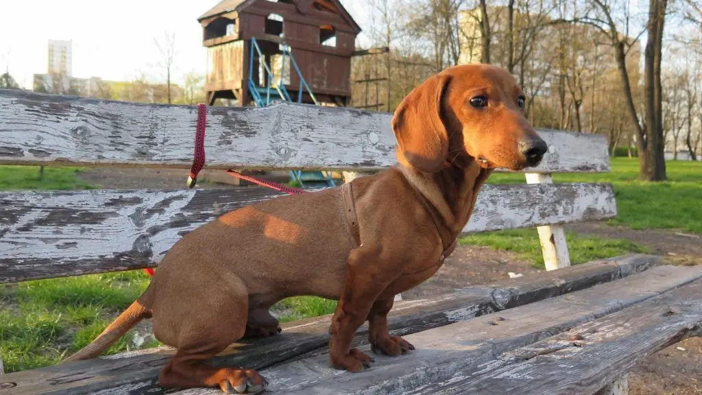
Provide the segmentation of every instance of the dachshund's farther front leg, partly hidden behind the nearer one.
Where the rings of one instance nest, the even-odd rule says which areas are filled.
[[[390,336],[388,313],[393,303],[393,299],[378,299],[373,303],[368,315],[368,341],[375,354],[382,352],[389,356],[399,356],[414,349],[414,346],[402,337]]]

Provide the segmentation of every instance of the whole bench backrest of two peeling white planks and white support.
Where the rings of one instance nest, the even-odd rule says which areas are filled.
[[[391,118],[293,103],[208,108],[206,168],[384,169],[395,164]],[[0,193],[0,283],[156,266],[197,226],[280,195],[261,188],[185,189],[196,119],[195,106],[0,89],[0,163],[184,169],[183,190]],[[614,190],[609,183],[553,184],[549,174],[609,171],[607,141],[538,132],[549,151],[527,174],[536,185],[484,186],[464,231],[541,226],[542,245],[552,244],[544,250],[547,268],[567,266],[562,230],[551,225],[616,216]]]

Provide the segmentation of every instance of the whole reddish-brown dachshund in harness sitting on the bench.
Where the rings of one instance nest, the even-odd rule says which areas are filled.
[[[546,152],[523,108],[522,91],[501,68],[433,75],[395,111],[397,166],[195,229],[173,245],[144,294],[67,361],[100,355],[152,317],[156,338],[177,349],[162,386],[257,393],[264,380],[254,370],[206,360],[245,335],[277,334],[268,310],[296,295],[338,300],[329,328],[335,367],[358,372],[373,361],[350,347],[365,320],[373,352],[405,354],[413,346],[388,333],[395,295],[442,266],[492,169],[536,166]]]

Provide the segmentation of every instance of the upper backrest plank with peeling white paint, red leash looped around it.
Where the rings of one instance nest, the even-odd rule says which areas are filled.
[[[0,89],[0,163],[189,168],[197,107]],[[276,103],[210,107],[211,169],[374,170],[395,164],[392,115]],[[531,172],[609,171],[607,140],[540,130],[549,151]]]

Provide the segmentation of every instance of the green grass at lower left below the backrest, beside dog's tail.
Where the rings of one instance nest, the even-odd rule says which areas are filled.
[[[0,285],[0,355],[7,372],[58,363],[86,346],[148,284],[138,271]],[[107,354],[128,349],[131,334]]]

